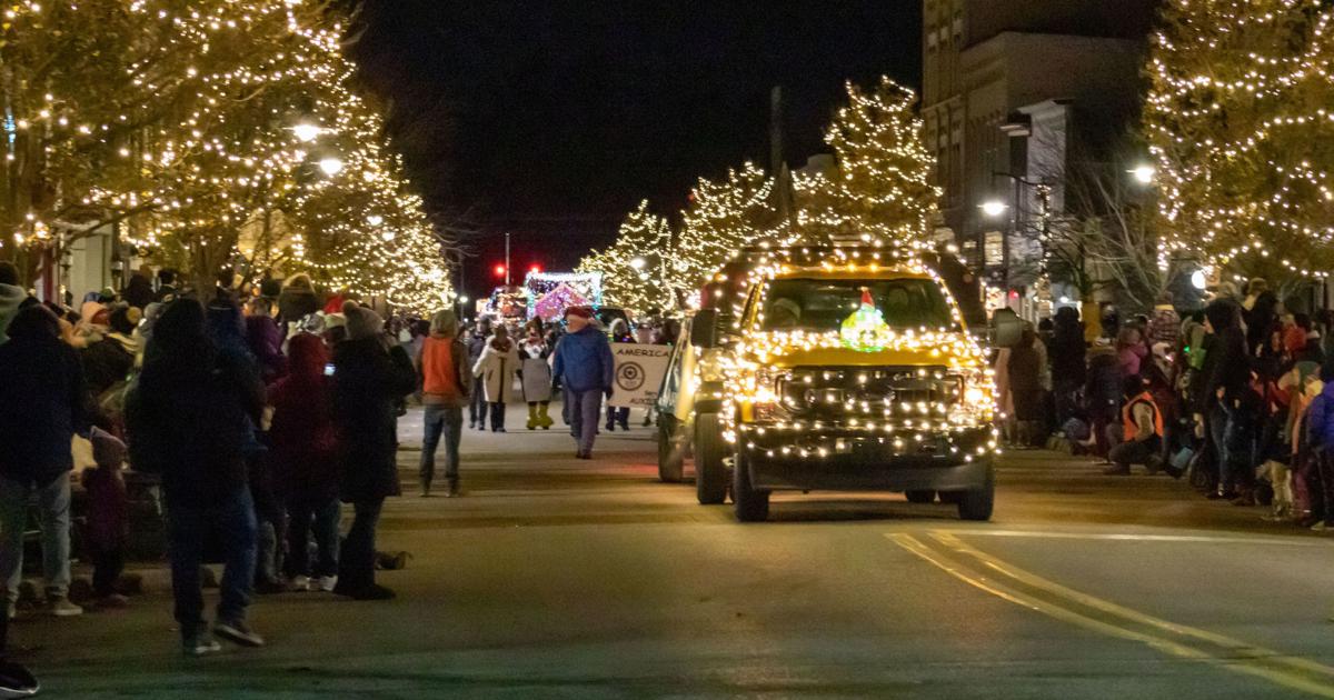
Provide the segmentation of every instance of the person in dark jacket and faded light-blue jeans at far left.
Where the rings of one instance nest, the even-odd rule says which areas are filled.
[[[69,592],[69,443],[87,435],[87,388],[79,356],[41,304],[20,311],[0,345],[0,577],[13,617],[23,577],[28,501],[41,523],[47,605],[56,616],[83,612]]]

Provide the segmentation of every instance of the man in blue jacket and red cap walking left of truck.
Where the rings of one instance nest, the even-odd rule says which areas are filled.
[[[568,333],[556,343],[551,373],[566,389],[570,432],[579,440],[575,457],[590,460],[602,417],[602,397],[611,399],[616,365],[607,336],[592,325],[592,309],[567,308],[566,328]]]

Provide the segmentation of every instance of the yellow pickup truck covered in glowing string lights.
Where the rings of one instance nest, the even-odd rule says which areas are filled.
[[[730,487],[738,520],[751,521],[767,519],[774,491],[888,491],[991,517],[991,371],[924,263],[879,248],[775,249],[736,288],[731,313],[690,320],[678,385],[659,401],[660,461],[676,465],[694,445],[700,503],[723,503]]]

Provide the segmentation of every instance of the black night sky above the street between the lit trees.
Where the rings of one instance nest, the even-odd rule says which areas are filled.
[[[772,85],[799,167],[843,80],[920,83],[920,0],[366,0],[359,23],[410,175],[475,231],[472,293],[504,231],[516,271],[567,269],[640,199],[674,215],[698,176],[767,164]]]

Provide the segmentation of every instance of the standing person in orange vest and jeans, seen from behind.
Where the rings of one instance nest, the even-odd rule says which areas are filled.
[[[431,495],[435,479],[435,451],[444,436],[446,496],[459,495],[459,441],[463,437],[463,405],[472,389],[468,349],[459,340],[459,319],[451,309],[431,317],[431,329],[416,359],[422,379],[422,496]]]

